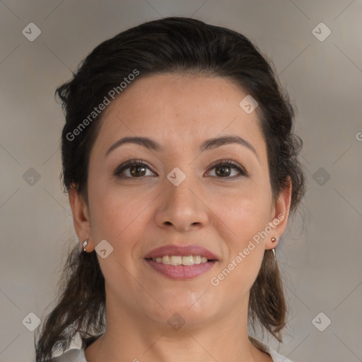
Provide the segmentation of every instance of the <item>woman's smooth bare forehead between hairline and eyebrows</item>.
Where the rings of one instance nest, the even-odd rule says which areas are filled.
[[[174,148],[235,134],[265,152],[257,112],[240,102],[247,93],[219,76],[157,74],[138,78],[107,106],[94,148],[105,153],[122,136],[147,136]],[[97,152],[98,153],[98,152]]]

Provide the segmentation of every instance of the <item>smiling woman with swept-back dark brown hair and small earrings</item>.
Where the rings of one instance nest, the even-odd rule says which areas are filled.
[[[275,248],[305,192],[293,109],[246,37],[163,18],[98,45],[57,94],[81,252],[36,361],[289,361]]]

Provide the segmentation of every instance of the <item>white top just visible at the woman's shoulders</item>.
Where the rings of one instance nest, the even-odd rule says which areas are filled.
[[[262,341],[255,339],[254,337],[249,336],[250,341],[254,344],[257,349],[263,352],[267,352],[273,358],[273,362],[292,362],[290,359],[281,356],[274,349],[271,349],[267,344],[264,344]],[[81,334],[77,332],[74,334],[73,339],[71,339],[71,344],[69,348],[64,350],[63,352],[54,353],[52,355],[51,362],[87,362],[86,357],[84,356],[84,350],[86,348],[86,344],[84,344],[81,339]],[[71,358],[71,359],[69,359]],[[36,362],[36,361],[33,361]]]

